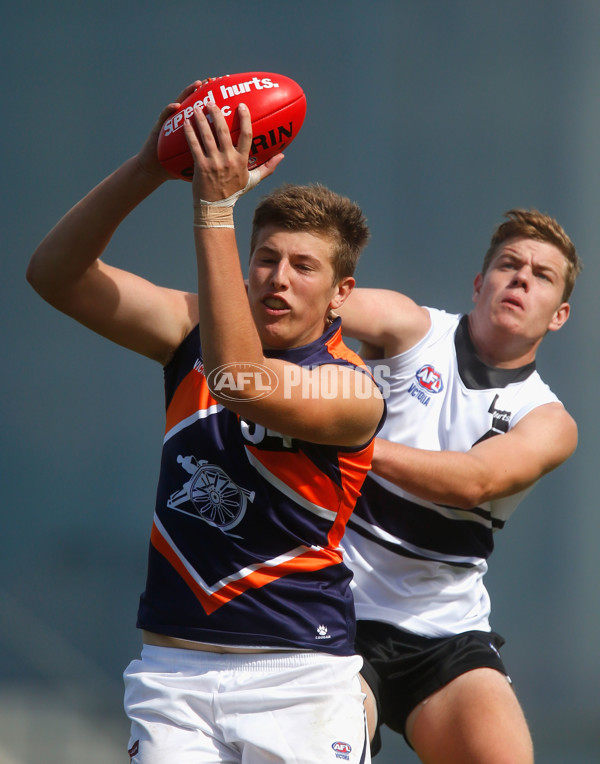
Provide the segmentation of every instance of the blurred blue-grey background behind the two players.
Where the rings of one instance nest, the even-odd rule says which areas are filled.
[[[360,202],[373,232],[361,284],[467,311],[505,210],[549,212],[575,241],[585,271],[539,368],[580,445],[497,536],[488,586],[538,761],[599,761],[600,4],[3,0],[1,11],[0,762],[127,760],[121,672],[139,652],[163,429],[161,369],[47,306],[25,282],[29,256],[184,85],[243,71],[305,89],[303,130],[262,190],[320,181]],[[242,250],[257,198],[237,208]],[[187,183],[167,184],[108,259],[193,289],[190,206]],[[377,762],[415,760],[385,735]]]

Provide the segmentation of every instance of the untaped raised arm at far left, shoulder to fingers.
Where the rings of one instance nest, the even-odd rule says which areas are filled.
[[[161,125],[200,83],[187,87],[161,113],[140,152],[92,189],[54,226],[27,270],[33,288],[51,305],[90,329],[166,363],[196,323],[194,295],[170,290],[104,263],[121,222],[171,176],[156,144]]]

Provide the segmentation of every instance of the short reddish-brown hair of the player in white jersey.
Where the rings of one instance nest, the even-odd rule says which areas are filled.
[[[553,244],[565,257],[565,288],[563,291],[563,302],[566,302],[571,296],[575,280],[581,273],[583,264],[575,249],[575,245],[565,233],[563,227],[550,215],[546,215],[538,210],[512,209],[504,213],[508,218],[504,223],[496,228],[492,235],[490,247],[485,253],[481,273],[485,275],[492,259],[500,246],[509,239],[524,238],[535,239],[536,241],[545,241]]]

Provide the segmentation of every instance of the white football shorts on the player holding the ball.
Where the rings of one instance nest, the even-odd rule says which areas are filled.
[[[124,672],[132,764],[368,764],[362,658],[144,645]]]

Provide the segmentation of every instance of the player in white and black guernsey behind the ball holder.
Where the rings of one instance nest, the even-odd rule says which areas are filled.
[[[533,761],[483,576],[494,532],[576,447],[576,424],[535,358],[569,317],[581,264],[553,218],[506,217],[468,315],[371,289],[339,311],[389,385],[373,471],[342,542],[357,649],[371,710],[427,764]]]

